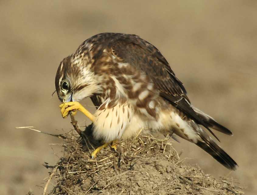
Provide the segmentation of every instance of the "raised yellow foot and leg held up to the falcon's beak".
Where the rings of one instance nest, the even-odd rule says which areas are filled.
[[[92,115],[88,110],[86,110],[79,102],[65,102],[60,106],[61,108],[61,116],[66,118],[70,111],[72,111],[72,115],[75,115],[77,110],[81,111],[85,114],[92,122],[95,122],[96,117]]]

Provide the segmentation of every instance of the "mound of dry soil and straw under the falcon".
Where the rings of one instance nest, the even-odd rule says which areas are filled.
[[[90,132],[90,131],[89,131]],[[226,178],[215,179],[179,159],[167,139],[139,135],[107,147],[90,158],[90,134],[83,139],[66,134],[63,157],[53,169],[54,187],[49,195],[179,195],[241,194],[241,188]],[[49,166],[48,166],[49,167]]]

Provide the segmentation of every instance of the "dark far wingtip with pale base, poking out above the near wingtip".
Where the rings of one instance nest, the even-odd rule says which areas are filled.
[[[233,135],[233,133],[227,129],[226,127],[222,126],[221,124],[218,124],[214,118],[209,116],[208,114],[205,114],[203,111],[193,107],[193,110],[197,113],[197,115],[205,122],[205,124],[208,125],[208,127],[213,128],[217,131],[220,131],[221,133],[227,134],[227,135]]]

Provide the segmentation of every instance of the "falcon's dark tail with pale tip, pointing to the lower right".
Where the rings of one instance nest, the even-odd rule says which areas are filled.
[[[200,140],[195,143],[227,169],[236,170],[237,163],[210,136],[193,121],[191,127],[198,133]]]

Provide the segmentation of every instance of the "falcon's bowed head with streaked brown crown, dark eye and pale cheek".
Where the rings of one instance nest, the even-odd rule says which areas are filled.
[[[64,58],[57,69],[55,89],[61,102],[75,102],[101,91],[97,77],[86,59]]]

